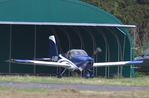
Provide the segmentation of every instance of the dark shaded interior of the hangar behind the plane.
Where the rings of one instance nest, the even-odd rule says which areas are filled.
[[[21,65],[4,62],[7,59],[34,59],[48,57],[49,35],[55,35],[59,53],[69,49],[84,49],[92,56],[100,47],[102,52],[96,56],[96,62],[130,60],[130,42],[128,35],[118,28],[83,27],[83,26],[35,26],[35,25],[0,25],[0,72],[1,73],[36,73],[56,75],[62,68]],[[129,76],[130,67],[95,68],[96,76]],[[70,76],[67,71],[65,76]]]

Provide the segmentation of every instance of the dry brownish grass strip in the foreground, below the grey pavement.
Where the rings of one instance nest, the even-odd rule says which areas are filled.
[[[50,91],[1,90],[0,98],[149,98],[149,91],[95,92],[65,88]]]

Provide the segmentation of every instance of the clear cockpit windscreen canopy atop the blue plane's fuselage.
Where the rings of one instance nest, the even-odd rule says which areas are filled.
[[[88,56],[88,54],[84,51],[84,50],[77,50],[77,49],[73,49],[68,51],[68,57],[75,57],[75,56]]]

